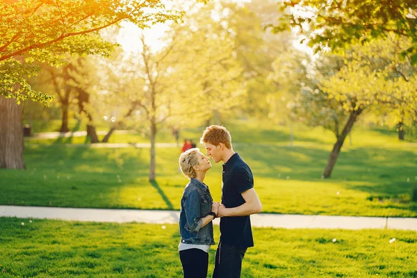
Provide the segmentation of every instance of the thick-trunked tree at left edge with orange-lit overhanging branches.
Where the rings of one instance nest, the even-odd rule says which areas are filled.
[[[180,15],[151,0],[20,0],[1,1],[0,17],[0,167],[22,169],[22,106],[17,104],[51,101],[26,81],[39,70],[32,62],[57,64],[67,53],[105,56],[113,44],[101,39],[101,29],[124,20],[145,28]]]

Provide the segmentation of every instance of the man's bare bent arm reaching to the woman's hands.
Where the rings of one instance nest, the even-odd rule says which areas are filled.
[[[224,216],[246,216],[254,213],[260,213],[262,210],[261,200],[256,194],[255,188],[250,188],[242,193],[245,204],[236,206],[236,208],[226,208],[220,204],[218,208],[218,217]]]

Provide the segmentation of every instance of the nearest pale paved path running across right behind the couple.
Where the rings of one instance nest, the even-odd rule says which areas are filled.
[[[142,211],[134,209],[51,208],[42,206],[0,206],[0,217],[76,220],[92,222],[144,222],[177,224],[179,211]],[[251,216],[254,227],[286,229],[402,229],[417,231],[417,218],[374,218],[327,215],[279,215],[261,213]],[[219,224],[219,219],[214,220]]]

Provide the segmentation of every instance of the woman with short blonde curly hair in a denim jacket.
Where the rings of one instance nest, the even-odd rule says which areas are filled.
[[[210,158],[199,149],[188,149],[179,156],[179,166],[184,176],[190,179],[181,198],[179,215],[179,258],[183,277],[206,277],[208,250],[214,244],[213,222],[219,203],[213,203],[210,190],[203,183],[211,168]]]

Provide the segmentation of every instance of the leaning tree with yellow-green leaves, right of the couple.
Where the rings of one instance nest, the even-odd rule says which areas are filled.
[[[375,40],[368,47],[352,47],[345,56],[345,66],[320,81],[320,89],[329,98],[341,101],[348,115],[323,172],[325,178],[331,176],[345,137],[363,111],[380,105],[403,116],[415,115],[417,111],[416,71],[407,61],[399,63],[395,55],[399,42],[391,39]],[[404,117],[400,119],[403,121]]]

